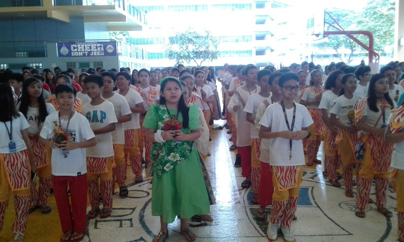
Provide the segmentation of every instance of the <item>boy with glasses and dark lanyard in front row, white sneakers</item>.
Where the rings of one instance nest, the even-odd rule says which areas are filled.
[[[294,218],[305,164],[302,139],[310,137],[313,124],[306,107],[294,102],[300,89],[299,77],[294,73],[280,76],[282,100],[270,105],[261,118],[259,137],[270,139],[270,164],[274,178],[272,213],[267,237],[276,240],[278,223],[285,241],[294,241],[290,230]]]

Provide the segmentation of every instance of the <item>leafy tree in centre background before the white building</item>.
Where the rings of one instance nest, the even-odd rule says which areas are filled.
[[[212,61],[218,58],[220,40],[208,30],[200,32],[188,29],[177,32],[168,39],[165,56],[176,60],[176,64],[194,62],[197,66],[201,66],[205,60]]]

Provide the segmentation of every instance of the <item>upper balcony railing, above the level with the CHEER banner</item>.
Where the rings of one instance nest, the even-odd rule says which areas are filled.
[[[147,25],[147,18],[143,12],[126,0],[53,0],[54,6],[91,6],[91,5],[115,5],[122,8],[130,16]]]

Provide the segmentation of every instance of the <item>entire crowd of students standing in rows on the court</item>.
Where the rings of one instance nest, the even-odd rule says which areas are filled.
[[[306,61],[280,70],[225,64],[218,76],[213,67],[181,64],[131,73],[129,68],[79,73],[57,67],[41,75],[30,68],[22,74],[2,70],[0,230],[11,195],[14,241],[23,241],[29,213],[50,213],[47,198],[54,192],[60,240],[81,241],[86,219],[113,212],[116,183],[119,195],[128,195],[127,163],[134,182],[143,181],[144,163],[154,176],[152,215],[160,216],[153,241],[168,237],[167,224],[176,216],[185,240],[194,241],[187,220],[213,221],[209,205],[215,196],[201,155],[210,155],[209,133],[221,118],[227,123],[213,129],[231,134],[234,165],[245,177],[241,187],[251,187],[251,202],[259,204],[255,218],[264,220],[272,204],[268,239],[275,240],[280,227],[284,240],[294,241],[290,226],[303,167],[322,162],[317,152],[324,140],[323,174],[335,187],[343,178],[347,197],[354,197],[357,186],[356,216],[365,217],[366,205],[373,203],[369,193],[375,180],[377,211],[391,217],[386,189],[393,182],[399,240],[404,241],[404,79],[399,64],[389,63],[374,75],[363,64],[331,63],[323,71]],[[91,209],[86,215],[87,194]]]

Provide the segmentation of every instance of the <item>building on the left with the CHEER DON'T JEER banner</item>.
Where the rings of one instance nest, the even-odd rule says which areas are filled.
[[[0,69],[149,67],[143,48],[111,40],[147,17],[125,0],[1,0]]]

